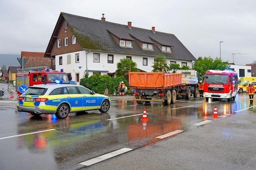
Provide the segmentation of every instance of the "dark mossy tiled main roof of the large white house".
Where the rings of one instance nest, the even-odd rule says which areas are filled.
[[[62,12],[61,16],[68,22],[82,49],[92,49],[99,51],[111,51],[113,53],[125,53],[130,55],[157,56],[163,55],[172,59],[196,60],[196,58],[186,49],[178,38],[169,33],[163,33],[149,29],[132,27],[127,25],[112,23],[108,21],[95,20],[82,16],[76,16]],[[123,35],[141,35],[143,39],[154,39],[162,45],[174,46],[172,53],[163,53],[156,45],[153,45],[154,51],[142,50],[136,43],[132,42],[133,48],[120,47],[111,36],[110,31],[120,33],[116,36]],[[113,34],[114,34],[113,33]]]

